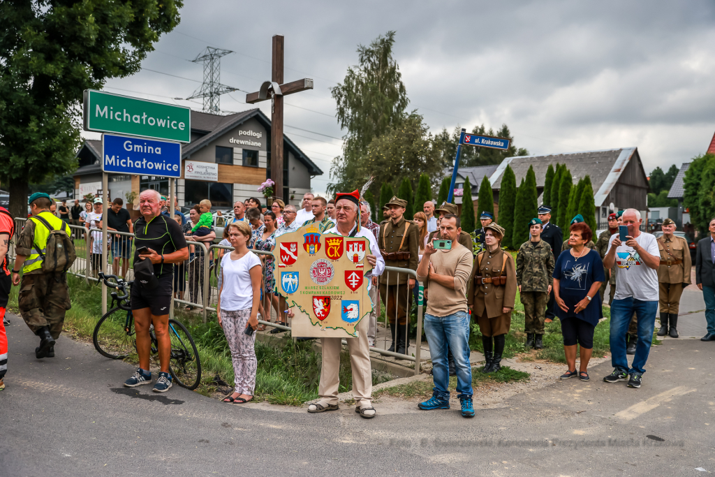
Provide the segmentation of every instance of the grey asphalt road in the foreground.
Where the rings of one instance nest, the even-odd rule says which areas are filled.
[[[715,342],[668,340],[640,389],[571,379],[501,408],[380,414],[352,406],[226,405],[174,387],[122,387],[131,365],[9,317],[9,375],[0,393],[0,476],[536,475],[702,476],[715,472]],[[697,471],[703,468],[706,472]]]

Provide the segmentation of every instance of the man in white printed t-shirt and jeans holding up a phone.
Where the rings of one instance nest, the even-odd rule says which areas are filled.
[[[616,383],[628,378],[629,388],[640,388],[648,355],[653,342],[653,330],[658,312],[658,267],[661,255],[656,237],[641,232],[641,212],[626,209],[623,225],[628,227],[626,242],[615,234],[608,242],[608,252],[603,257],[603,267],[618,267],[616,295],[611,303],[611,364],[613,373],[603,378],[606,383]],[[628,369],[626,358],[626,333],[633,313],[638,320],[638,344],[633,364]]]

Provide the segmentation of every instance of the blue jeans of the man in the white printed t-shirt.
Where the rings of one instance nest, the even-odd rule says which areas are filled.
[[[643,375],[646,372],[644,366],[651,352],[657,311],[658,300],[641,301],[632,297],[613,300],[611,303],[611,336],[609,338],[613,368],[623,371],[623,373],[637,375]],[[638,343],[636,344],[636,355],[633,356],[633,367],[628,370],[626,333],[628,333],[628,325],[631,323],[633,312],[636,313],[638,321]]]

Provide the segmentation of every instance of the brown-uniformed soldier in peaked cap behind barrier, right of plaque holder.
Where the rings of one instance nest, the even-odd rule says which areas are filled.
[[[418,227],[403,214],[407,201],[393,196],[386,204],[390,207],[390,220],[380,223],[378,245],[385,259],[385,266],[417,270],[419,265]],[[393,344],[388,351],[405,354],[407,352],[408,298],[415,286],[415,279],[405,273],[385,272],[380,275],[380,296],[385,305],[385,314],[390,320]],[[395,345],[397,335],[397,345]]]

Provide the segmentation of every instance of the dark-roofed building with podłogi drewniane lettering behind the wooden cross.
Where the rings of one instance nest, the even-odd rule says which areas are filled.
[[[179,206],[191,207],[202,199],[215,209],[230,210],[237,200],[261,198],[257,188],[270,177],[270,119],[260,109],[221,116],[191,112],[191,142],[182,144],[182,177],[176,181]],[[287,203],[300,207],[310,180],[321,175],[317,165],[283,136],[283,190]],[[102,189],[102,141],[87,139],[77,152],[75,197]],[[128,192],[159,190],[169,195],[169,180],[150,175],[109,174],[109,198]]]

